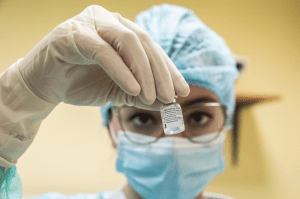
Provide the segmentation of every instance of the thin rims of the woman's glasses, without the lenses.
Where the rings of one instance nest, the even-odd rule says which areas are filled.
[[[209,141],[195,141],[193,140],[193,138],[190,138],[190,137],[185,137],[187,138],[190,142],[192,143],[195,143],[195,144],[208,144],[212,141],[214,141],[215,139],[217,139],[221,133],[221,130],[226,126],[226,121],[227,121],[227,117],[229,116],[229,112],[227,111],[227,108],[224,104],[221,104],[219,102],[204,102],[204,103],[199,103],[203,106],[220,106],[222,108],[222,113],[223,113],[223,116],[224,116],[224,124],[222,125],[221,129],[218,131],[218,134],[212,139],[212,140],[209,140]],[[123,107],[120,107],[120,106],[113,106],[112,107],[112,112],[115,112],[116,115],[117,115],[117,118],[118,118],[118,122],[120,124],[120,127],[121,129],[124,131],[124,135],[125,137],[133,144],[136,144],[136,145],[149,145],[149,144],[152,144],[152,143],[155,143],[157,142],[160,138],[163,137],[163,135],[165,134],[164,131],[162,131],[161,135],[156,137],[155,140],[151,141],[151,142],[146,142],[146,143],[140,143],[140,142],[136,142],[136,141],[133,141],[127,134],[126,134],[126,131],[125,131],[125,128],[122,124],[122,120],[121,120],[121,114],[120,114],[120,110],[122,109]],[[182,134],[184,135],[184,131],[182,132]]]

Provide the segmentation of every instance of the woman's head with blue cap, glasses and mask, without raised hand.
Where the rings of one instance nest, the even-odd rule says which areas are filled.
[[[116,168],[128,180],[115,198],[227,198],[204,189],[225,168],[223,144],[232,128],[237,77],[229,49],[181,7],[154,6],[136,23],[163,47],[189,83],[190,94],[176,100],[185,131],[174,135],[163,133],[159,111],[102,107],[103,125],[118,150]],[[122,192],[125,197],[119,196]]]

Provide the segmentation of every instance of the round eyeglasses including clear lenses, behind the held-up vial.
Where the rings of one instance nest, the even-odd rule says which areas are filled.
[[[113,112],[117,115],[121,130],[134,144],[151,144],[164,136],[160,111],[115,106]],[[210,143],[219,137],[225,126],[227,111],[225,105],[208,102],[183,108],[182,115],[185,125],[183,137],[193,143]],[[133,136],[134,134],[146,135],[147,139],[137,139],[137,136]]]

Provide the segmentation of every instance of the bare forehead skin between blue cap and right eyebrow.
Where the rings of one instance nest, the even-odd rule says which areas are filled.
[[[195,85],[189,85],[190,86],[190,94],[187,97],[180,97],[176,99],[176,102],[180,105],[186,104],[190,101],[199,99],[199,98],[206,98],[207,102],[220,102],[219,97],[217,94],[209,89],[206,89],[204,87],[199,87]],[[211,99],[211,100],[210,100]]]

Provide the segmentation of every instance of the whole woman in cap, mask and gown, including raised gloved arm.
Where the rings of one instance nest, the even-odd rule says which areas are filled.
[[[0,145],[1,196],[19,198],[21,184],[14,165],[33,141],[42,119],[58,103],[65,102],[102,106],[104,125],[118,150],[116,168],[126,176],[128,183],[116,192],[74,197],[48,193],[40,199],[228,198],[204,192],[213,178],[224,170],[223,145],[226,132],[232,128],[238,71],[225,42],[191,10],[179,6],[153,6],[137,16],[135,24],[138,26],[120,15],[111,16],[103,8],[88,7],[82,14],[54,29],[24,59],[18,60],[2,75],[2,82],[7,83],[9,77],[14,77],[23,90],[30,90],[18,92],[19,96],[28,93],[33,96],[34,93],[34,100],[39,103],[33,105],[28,99],[22,103],[23,112],[19,111],[19,115],[21,112],[31,113],[25,114],[28,116],[26,123],[20,123],[22,128],[16,126],[19,117],[14,118],[14,123],[11,121],[13,125],[9,128],[6,125],[9,119],[0,123],[4,132],[0,136],[5,143]],[[124,27],[110,25],[118,23],[116,19],[136,33],[143,54],[138,56],[142,53],[140,44],[118,45],[120,38],[115,33]],[[107,43],[100,43],[99,38],[92,40],[97,33],[118,52],[136,81],[114,52],[107,48],[102,54],[98,53]],[[128,36],[128,31],[123,35]],[[128,40],[128,37],[121,39]],[[150,65],[143,56],[148,57]],[[146,76],[150,66],[153,75]],[[6,87],[9,85],[7,83]],[[16,89],[11,89],[14,91],[9,96],[14,96],[13,92],[19,87],[13,87]],[[4,92],[4,89],[0,91]],[[163,132],[159,108],[172,102],[175,93],[179,96],[177,103],[182,106],[185,131],[167,136]],[[2,109],[13,110],[11,115],[17,115],[20,106],[15,104],[20,103],[4,102],[0,104]],[[106,102],[111,103],[103,106]],[[38,109],[33,108],[37,106]],[[10,116],[10,112],[0,113],[0,116]],[[25,116],[22,117],[24,120]],[[18,139],[19,147],[15,147],[14,139]]]

